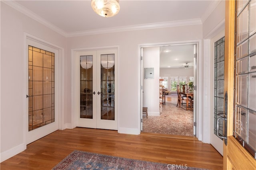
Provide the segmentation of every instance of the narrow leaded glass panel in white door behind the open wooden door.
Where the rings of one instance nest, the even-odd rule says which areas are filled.
[[[214,43],[214,134],[223,136],[223,121],[219,122],[217,130],[217,120],[223,117],[224,109],[224,47],[225,37]],[[220,138],[221,139],[221,138]]]

